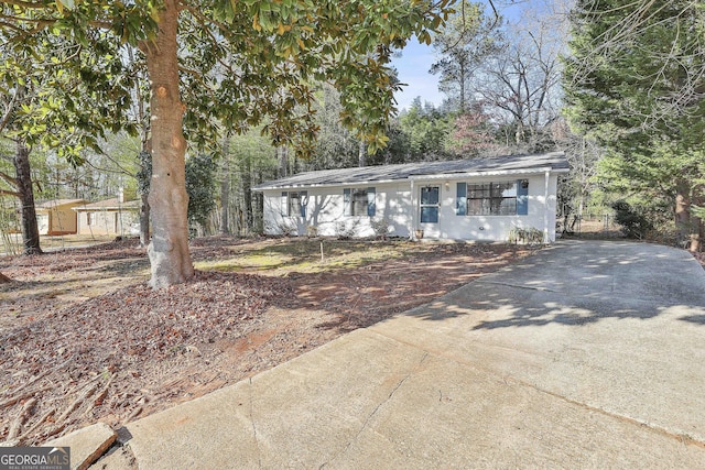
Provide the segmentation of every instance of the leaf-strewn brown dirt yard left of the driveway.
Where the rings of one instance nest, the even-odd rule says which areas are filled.
[[[531,255],[525,247],[197,239],[147,286],[135,240],[0,259],[0,441],[37,445],[236,383]]]

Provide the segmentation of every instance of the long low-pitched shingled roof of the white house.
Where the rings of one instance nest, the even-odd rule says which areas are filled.
[[[306,186],[334,186],[368,182],[403,181],[412,177],[487,173],[503,171],[539,171],[550,168],[567,172],[568,162],[563,152],[531,155],[506,155],[488,159],[455,160],[451,162],[419,162],[401,165],[364,166],[356,168],[306,172],[281,179],[264,182],[254,190]]]

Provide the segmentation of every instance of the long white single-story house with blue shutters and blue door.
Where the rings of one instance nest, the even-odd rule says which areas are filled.
[[[531,231],[552,242],[557,177],[568,170],[552,152],[324,170],[253,190],[268,234],[509,241]]]

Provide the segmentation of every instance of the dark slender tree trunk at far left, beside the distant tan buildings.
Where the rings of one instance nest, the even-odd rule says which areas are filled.
[[[32,187],[32,172],[30,171],[30,150],[23,140],[17,141],[14,154],[14,171],[17,172],[18,193],[20,194],[22,242],[24,254],[40,254],[40,229],[36,225],[36,208],[34,207],[34,188]]]

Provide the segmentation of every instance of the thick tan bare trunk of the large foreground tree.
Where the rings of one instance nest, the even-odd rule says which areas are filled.
[[[194,275],[188,252],[186,141],[184,105],[178,96],[177,0],[165,0],[154,42],[142,44],[151,86],[152,181],[149,203],[153,237],[149,247],[154,288],[180,284]]]

